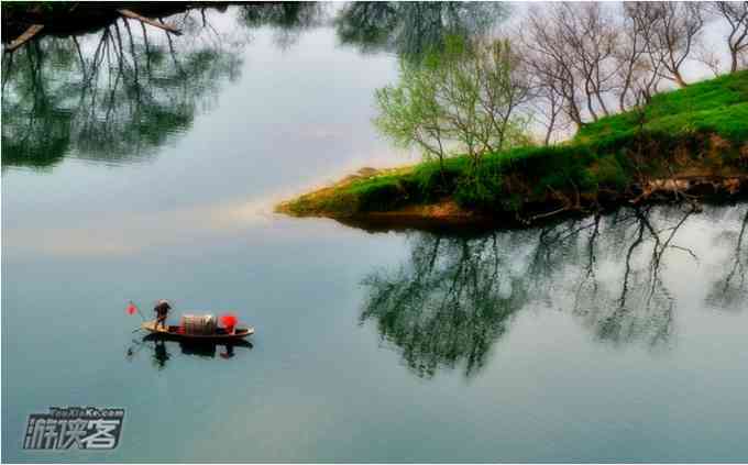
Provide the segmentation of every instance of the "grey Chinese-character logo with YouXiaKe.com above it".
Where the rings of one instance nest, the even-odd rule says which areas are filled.
[[[53,407],[50,413],[29,416],[23,449],[111,450],[119,443],[123,419],[124,409]]]

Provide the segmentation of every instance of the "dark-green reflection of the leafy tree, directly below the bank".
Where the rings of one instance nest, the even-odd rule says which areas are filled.
[[[462,362],[466,375],[477,372],[528,298],[524,283],[506,274],[497,239],[419,235],[408,267],[364,280],[372,292],[362,321],[376,319],[421,376]]]

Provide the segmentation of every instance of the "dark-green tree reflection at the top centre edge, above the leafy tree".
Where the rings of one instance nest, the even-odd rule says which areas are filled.
[[[449,35],[486,34],[507,13],[497,2],[351,2],[337,15],[336,32],[363,53],[416,58]]]

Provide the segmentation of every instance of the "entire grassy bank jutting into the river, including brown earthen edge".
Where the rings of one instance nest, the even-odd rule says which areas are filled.
[[[294,215],[398,214],[532,222],[662,199],[692,201],[748,188],[748,71],[660,93],[639,111],[601,119],[554,146],[351,176],[278,206]]]

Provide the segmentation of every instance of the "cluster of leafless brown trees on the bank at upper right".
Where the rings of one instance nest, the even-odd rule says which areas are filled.
[[[530,7],[521,18],[514,36],[546,144],[564,121],[581,128],[609,115],[613,106],[624,112],[649,102],[664,81],[688,86],[683,69],[689,62],[719,74],[718,53],[701,41],[712,14],[730,25],[730,70],[748,66],[748,1],[710,7],[639,1],[616,8],[552,3]]]

